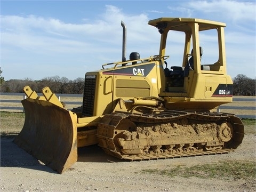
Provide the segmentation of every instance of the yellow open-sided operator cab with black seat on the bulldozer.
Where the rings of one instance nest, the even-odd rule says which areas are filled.
[[[162,61],[166,66],[165,92],[189,97],[191,84],[198,81],[199,74],[227,75],[225,23],[191,18],[159,18],[148,24],[157,27],[161,34],[159,55],[170,55],[168,65]]]

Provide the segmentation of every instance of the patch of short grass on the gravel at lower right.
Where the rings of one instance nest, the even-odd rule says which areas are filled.
[[[202,179],[255,179],[255,162],[252,161],[225,161],[213,164],[194,165],[191,167],[177,166],[171,168],[166,166],[164,170],[147,169],[142,173],[166,175],[167,177],[202,178]]]

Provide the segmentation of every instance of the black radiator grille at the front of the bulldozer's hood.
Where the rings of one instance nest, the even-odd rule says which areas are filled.
[[[83,116],[93,116],[96,75],[89,76],[84,81]],[[92,78],[93,77],[93,78]]]

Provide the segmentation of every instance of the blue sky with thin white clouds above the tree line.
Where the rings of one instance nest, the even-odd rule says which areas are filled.
[[[228,74],[255,78],[255,10],[255,1],[2,0],[2,76],[73,80],[121,61],[121,20],[127,27],[126,58],[130,52],[147,58],[158,54],[160,39],[148,20],[183,17],[225,22]]]

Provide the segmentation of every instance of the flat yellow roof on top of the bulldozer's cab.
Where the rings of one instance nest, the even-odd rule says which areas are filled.
[[[199,23],[199,31],[217,27],[226,27],[226,24],[222,22],[195,18],[158,18],[148,21],[148,25],[157,27],[158,29],[164,27],[169,28],[169,30],[177,31],[191,30],[188,23]]]

